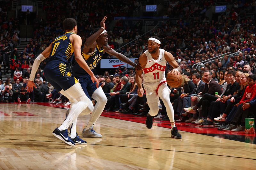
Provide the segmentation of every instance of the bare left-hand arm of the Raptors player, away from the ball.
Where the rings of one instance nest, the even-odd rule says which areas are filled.
[[[143,69],[145,68],[147,62],[148,62],[148,59],[147,59],[147,56],[145,55],[145,53],[140,55],[138,65],[140,65],[141,70],[137,70],[136,71],[136,75],[135,75],[135,80],[136,80],[136,83],[138,85],[138,96],[139,97],[142,97],[143,93],[144,93],[144,90],[142,88],[142,78],[141,78],[141,75],[143,73]]]

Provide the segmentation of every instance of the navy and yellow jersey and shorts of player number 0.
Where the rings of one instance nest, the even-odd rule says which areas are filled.
[[[44,68],[44,75],[54,88],[58,91],[67,90],[76,84],[77,79],[69,71],[69,63],[74,53],[74,47],[69,40],[73,32],[66,32],[56,37],[52,43],[52,50],[49,55],[49,61]]]

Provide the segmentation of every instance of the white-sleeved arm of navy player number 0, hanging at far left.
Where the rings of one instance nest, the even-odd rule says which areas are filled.
[[[45,58],[49,57],[51,50],[52,50],[52,43],[47,48],[45,48],[45,50],[41,54],[39,54],[36,57],[36,59],[34,61],[34,64],[33,64],[33,67],[32,67],[32,70],[31,70],[31,73],[30,73],[28,85],[26,87],[26,89],[28,88],[28,92],[32,92],[33,87],[36,87],[36,85],[34,83],[34,78],[35,78],[35,75],[36,75],[36,71],[38,70],[38,67],[39,67],[40,63],[42,61],[44,61]]]

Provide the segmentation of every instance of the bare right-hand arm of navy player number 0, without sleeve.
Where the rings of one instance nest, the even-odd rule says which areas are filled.
[[[99,86],[99,81],[98,79],[94,76],[92,70],[89,68],[87,63],[84,61],[82,55],[81,55],[81,45],[82,45],[82,39],[79,35],[72,34],[70,35],[70,41],[73,44],[74,47],[74,55],[75,55],[75,60],[79,64],[80,67],[82,67],[90,76],[92,79],[92,82],[96,82],[96,86],[98,88]]]

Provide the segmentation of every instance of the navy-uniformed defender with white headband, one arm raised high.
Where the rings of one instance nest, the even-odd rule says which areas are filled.
[[[122,55],[121,53],[117,53],[115,50],[108,46],[108,33],[105,30],[105,20],[107,17],[104,17],[100,22],[100,28],[95,29],[95,33],[93,33],[84,43],[82,47],[82,56],[84,61],[88,64],[90,69],[93,69],[100,63],[103,52],[106,52],[110,55],[116,56],[121,61],[130,64],[135,67],[136,64],[133,63],[129,58]],[[140,69],[136,67],[136,70]],[[75,61],[72,68],[72,74],[79,80],[85,94],[87,97],[91,99],[91,97],[97,101],[96,105],[93,108],[92,102],[90,102],[89,106],[81,113],[81,115],[90,114],[91,118],[87,124],[87,126],[83,129],[82,136],[83,137],[95,137],[101,138],[101,134],[95,132],[93,128],[95,122],[100,117],[103,109],[107,103],[107,97],[103,92],[102,88],[96,87],[95,83],[90,79],[90,75],[84,71]],[[68,114],[68,111],[67,113]],[[72,127],[72,124],[71,124]]]

